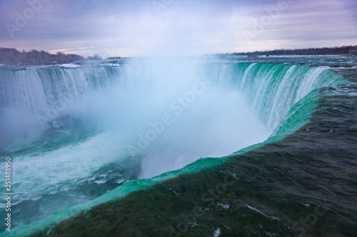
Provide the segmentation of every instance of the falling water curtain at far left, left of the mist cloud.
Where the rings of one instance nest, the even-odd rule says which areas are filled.
[[[108,66],[1,70],[1,147],[41,135],[74,98],[106,88],[120,75],[120,67]]]

